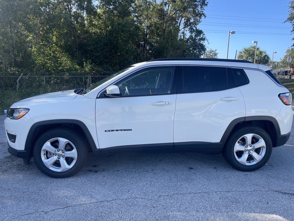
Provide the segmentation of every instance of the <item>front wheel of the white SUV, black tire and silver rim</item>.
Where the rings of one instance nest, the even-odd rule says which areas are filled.
[[[48,142],[50,145],[46,145]],[[38,169],[53,178],[75,175],[83,167],[87,153],[86,140],[70,128],[46,131],[37,139],[33,150]]]

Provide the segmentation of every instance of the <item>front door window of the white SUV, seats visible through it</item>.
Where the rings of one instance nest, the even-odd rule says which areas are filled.
[[[135,72],[115,85],[121,96],[167,94],[175,67],[149,67]]]

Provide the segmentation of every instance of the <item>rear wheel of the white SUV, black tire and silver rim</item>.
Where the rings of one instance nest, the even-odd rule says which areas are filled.
[[[252,140],[251,144],[249,144],[250,139]],[[252,146],[250,147],[250,145]],[[254,145],[260,147],[255,149]],[[241,150],[242,147],[244,147],[243,151]],[[271,138],[264,129],[258,126],[245,126],[230,136],[222,154],[224,159],[233,168],[240,171],[254,171],[266,164],[270,158],[272,149]]]

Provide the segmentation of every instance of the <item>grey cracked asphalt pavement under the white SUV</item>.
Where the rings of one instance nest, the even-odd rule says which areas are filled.
[[[7,152],[5,117],[0,220],[294,220],[294,132],[253,172],[222,155],[89,155],[74,177],[54,179]]]

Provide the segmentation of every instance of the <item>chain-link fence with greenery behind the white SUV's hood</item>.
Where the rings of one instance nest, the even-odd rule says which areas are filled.
[[[106,76],[108,75],[93,75],[89,73],[0,76],[0,114],[18,100],[44,93],[88,88]]]

